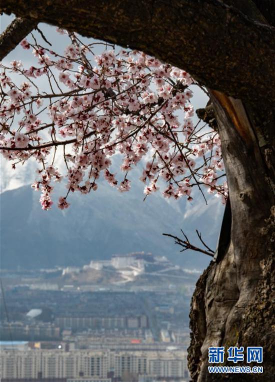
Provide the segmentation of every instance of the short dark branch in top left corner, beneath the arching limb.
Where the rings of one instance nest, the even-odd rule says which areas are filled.
[[[16,45],[34,29],[37,20],[17,17],[0,34],[0,60],[2,60]]]

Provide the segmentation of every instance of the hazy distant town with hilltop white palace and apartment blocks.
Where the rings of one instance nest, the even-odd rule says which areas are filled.
[[[0,273],[1,382],[187,381],[195,270],[137,252]]]

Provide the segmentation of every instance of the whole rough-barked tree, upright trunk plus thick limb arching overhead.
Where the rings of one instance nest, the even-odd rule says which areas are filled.
[[[214,89],[232,224],[192,298],[189,370],[193,382],[222,381],[207,373],[209,346],[262,346],[263,375],[225,378],[272,381],[275,1],[0,0],[0,10],[143,50]]]

